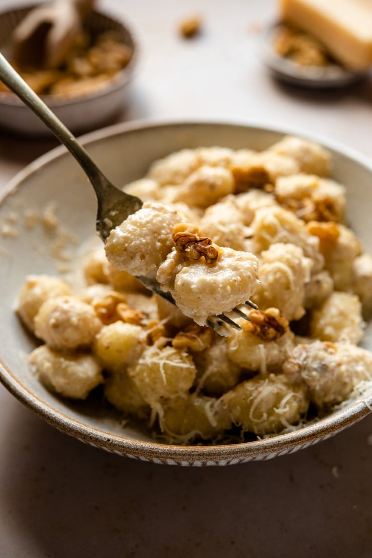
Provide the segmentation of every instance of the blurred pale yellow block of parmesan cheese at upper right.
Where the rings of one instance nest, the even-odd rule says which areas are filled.
[[[347,68],[372,65],[371,0],[279,0],[281,16],[317,37]]]

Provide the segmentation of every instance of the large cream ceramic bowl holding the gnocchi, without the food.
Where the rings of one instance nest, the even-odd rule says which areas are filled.
[[[293,129],[273,129],[233,123],[133,123],[118,124],[90,133],[83,142],[91,156],[114,184],[138,179],[149,164],[183,147],[226,146],[234,149],[267,148],[292,133],[322,143],[334,158],[336,180],[347,187],[351,227],[372,252],[372,220],[366,202],[372,184],[372,165],[365,157],[323,138]],[[94,235],[96,202],[93,189],[65,148],[42,156],[21,171],[1,194],[0,230],[8,231],[0,249],[0,378],[13,395],[42,419],[60,430],[120,455],[155,463],[177,465],[228,465],[270,459],[306,448],[335,435],[372,410],[372,391],[364,391],[325,418],[267,439],[215,446],[172,446],[123,425],[114,413],[102,410],[102,402],[74,403],[57,397],[38,382],[27,367],[26,355],[35,347],[15,314],[18,292],[29,273],[56,275],[60,260],[51,257],[51,239],[40,225],[23,225],[25,211],[41,210],[53,201],[61,227],[74,232],[79,243]],[[15,215],[18,215],[16,220]],[[15,221],[15,223],[12,224]],[[8,228],[4,229],[4,225]],[[11,234],[13,230],[14,235]],[[68,235],[67,235],[68,238]],[[65,246],[71,253],[74,243]],[[66,264],[69,262],[62,262]],[[363,339],[372,350],[372,327]]]

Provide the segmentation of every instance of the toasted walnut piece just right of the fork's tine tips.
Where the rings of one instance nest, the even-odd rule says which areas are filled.
[[[264,341],[274,341],[289,330],[287,318],[277,308],[262,310],[251,310],[249,313],[251,321],[244,322],[244,331],[257,335]]]

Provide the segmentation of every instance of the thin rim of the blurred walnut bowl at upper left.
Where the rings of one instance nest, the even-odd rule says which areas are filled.
[[[38,3],[31,4],[30,6],[17,6],[14,9],[9,9],[6,12],[0,13],[1,17],[7,17],[11,13],[14,12],[21,12],[22,10],[32,9],[38,6]],[[137,71],[138,66],[138,42],[136,37],[133,35],[132,28],[128,27],[127,23],[122,20],[117,20],[113,15],[110,15],[107,12],[97,11],[94,10],[93,13],[97,16],[103,16],[108,20],[112,20],[114,23],[120,25],[130,37],[133,45],[133,54],[131,60],[129,60],[127,66],[122,70],[118,71],[112,78],[108,79],[102,89],[98,89],[91,93],[83,93],[81,95],[75,97],[69,97],[68,95],[40,95],[41,99],[48,105],[48,107],[55,109],[59,107],[67,107],[71,105],[78,105],[82,102],[85,102],[89,99],[98,99],[100,97],[105,97],[111,92],[116,91],[117,89],[121,89],[127,83],[132,81],[134,75]],[[0,47],[3,47],[3,43],[0,40]],[[8,92],[0,92],[0,104],[8,106],[8,107],[22,107],[25,108],[25,104],[21,101],[20,98],[17,97],[14,93]]]

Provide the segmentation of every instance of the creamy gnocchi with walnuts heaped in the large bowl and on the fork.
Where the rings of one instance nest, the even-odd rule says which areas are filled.
[[[120,416],[178,444],[271,436],[345,401],[372,381],[356,346],[372,257],[345,225],[331,167],[323,147],[290,136],[155,161],[123,186],[142,208],[80,258],[83,286],[26,278],[17,312],[45,343],[30,355],[40,381],[69,398],[102,389]],[[258,309],[243,311],[250,297]],[[234,306],[230,336],[207,327]]]

